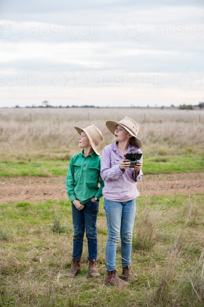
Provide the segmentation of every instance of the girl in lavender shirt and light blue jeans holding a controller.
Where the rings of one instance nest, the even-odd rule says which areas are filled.
[[[124,160],[126,153],[139,151],[142,143],[137,138],[138,124],[125,117],[120,122],[107,121],[107,128],[115,136],[115,143],[106,146],[101,155],[101,177],[104,180],[102,194],[108,225],[106,244],[106,285],[125,286],[123,280],[135,281],[130,272],[132,231],[135,221],[135,198],[139,196],[137,181],[142,180],[141,162],[130,169],[130,162]],[[116,250],[121,237],[122,279],[116,274]]]

